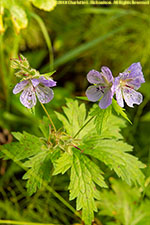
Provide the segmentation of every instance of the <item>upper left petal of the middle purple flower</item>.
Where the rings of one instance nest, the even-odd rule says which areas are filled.
[[[91,84],[100,84],[100,83],[104,83],[101,73],[99,73],[99,72],[96,71],[96,70],[91,70],[91,71],[87,74],[87,80],[88,80]]]

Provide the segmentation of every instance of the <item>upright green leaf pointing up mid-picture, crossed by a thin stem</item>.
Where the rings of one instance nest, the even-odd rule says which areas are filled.
[[[90,120],[92,117],[86,115],[85,104],[79,105],[78,101],[67,99],[67,107],[63,107],[65,116],[55,112],[58,119],[63,123],[65,130],[69,135],[74,137],[77,132]],[[94,129],[93,122],[89,122],[85,128],[77,135],[77,138],[82,138],[88,132]]]

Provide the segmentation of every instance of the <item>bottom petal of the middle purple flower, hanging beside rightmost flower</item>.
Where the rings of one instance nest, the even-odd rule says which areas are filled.
[[[99,107],[101,109],[106,109],[112,103],[113,93],[111,89],[105,92],[103,98],[99,102]]]

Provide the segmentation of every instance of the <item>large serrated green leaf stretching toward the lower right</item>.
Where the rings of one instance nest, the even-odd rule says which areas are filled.
[[[100,139],[99,136],[89,136],[79,146],[84,154],[88,154],[105,163],[111,170],[126,181],[129,185],[143,186],[144,175],[140,168],[145,165],[135,156],[127,153],[132,151],[132,146],[123,141]]]

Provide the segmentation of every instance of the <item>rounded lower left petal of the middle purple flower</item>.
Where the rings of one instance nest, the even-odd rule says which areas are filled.
[[[87,88],[85,94],[90,101],[96,102],[103,96],[104,93],[98,85],[92,85]]]

